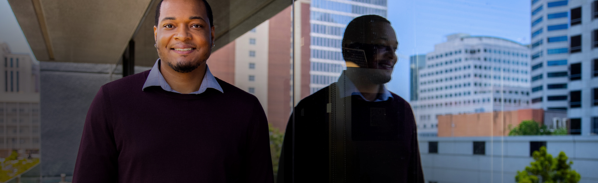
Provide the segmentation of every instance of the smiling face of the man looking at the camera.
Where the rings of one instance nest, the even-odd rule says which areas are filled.
[[[154,36],[162,63],[188,73],[206,63],[214,41],[208,13],[202,1],[167,0],[160,8]]]

